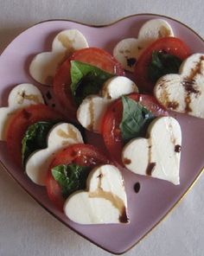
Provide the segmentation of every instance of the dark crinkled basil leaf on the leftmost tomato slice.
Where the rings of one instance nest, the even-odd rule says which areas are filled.
[[[35,150],[47,147],[47,136],[54,122],[37,122],[30,125],[22,138],[22,165],[24,166],[30,154]]]

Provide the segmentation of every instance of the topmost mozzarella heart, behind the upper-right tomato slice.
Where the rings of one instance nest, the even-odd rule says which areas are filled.
[[[161,37],[174,36],[168,22],[163,19],[152,19],[145,22],[138,33],[138,38],[125,38],[113,49],[113,56],[125,70],[134,72],[135,64],[144,48]]]

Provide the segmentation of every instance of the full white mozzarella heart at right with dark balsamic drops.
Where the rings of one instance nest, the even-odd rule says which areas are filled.
[[[148,138],[135,138],[124,146],[122,160],[134,173],[179,184],[182,131],[175,118],[156,118]]]

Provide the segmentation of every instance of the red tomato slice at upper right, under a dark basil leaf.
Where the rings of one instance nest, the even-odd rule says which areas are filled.
[[[164,51],[181,60],[185,60],[191,54],[190,48],[176,37],[163,37],[150,44],[139,57],[135,67],[136,84],[144,93],[152,93],[155,86],[148,78],[148,67],[153,51]]]

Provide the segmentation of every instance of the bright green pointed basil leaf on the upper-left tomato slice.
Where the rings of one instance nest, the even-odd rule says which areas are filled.
[[[80,62],[71,61],[71,91],[77,105],[90,94],[98,94],[106,80],[112,78],[99,67]]]

